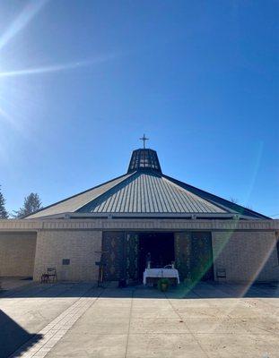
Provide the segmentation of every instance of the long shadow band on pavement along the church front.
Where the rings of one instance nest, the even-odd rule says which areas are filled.
[[[101,291],[101,293],[100,293]],[[231,284],[217,282],[198,282],[195,284],[180,284],[171,286],[166,294],[162,294],[156,287],[143,285],[118,288],[117,285],[106,283],[104,288],[98,288],[93,283],[57,283],[35,284],[33,286],[20,287],[15,290],[0,293],[1,298],[74,298],[74,297],[110,297],[110,298],[171,298],[171,299],[205,299],[205,298],[278,298],[279,283],[246,283]]]

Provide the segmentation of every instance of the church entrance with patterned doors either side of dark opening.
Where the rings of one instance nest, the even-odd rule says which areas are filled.
[[[176,261],[180,281],[214,280],[212,237],[210,232],[104,232],[104,278],[118,281],[127,277],[143,280],[146,257],[152,268]]]

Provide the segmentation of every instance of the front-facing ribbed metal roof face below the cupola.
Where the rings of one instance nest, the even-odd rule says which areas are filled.
[[[136,172],[77,212],[228,213],[153,172]]]

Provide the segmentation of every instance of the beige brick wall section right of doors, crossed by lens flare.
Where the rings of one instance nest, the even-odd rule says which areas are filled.
[[[227,281],[279,280],[275,232],[213,232],[214,274],[225,268]]]

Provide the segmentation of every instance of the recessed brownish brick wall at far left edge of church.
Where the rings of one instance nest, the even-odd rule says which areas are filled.
[[[32,277],[37,233],[0,233],[0,276]]]

